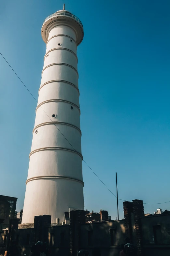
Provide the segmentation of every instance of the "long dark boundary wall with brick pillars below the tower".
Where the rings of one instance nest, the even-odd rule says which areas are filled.
[[[51,216],[35,216],[32,224],[10,220],[9,229],[0,231],[0,256],[15,239],[21,255],[30,255],[36,240],[48,243],[51,255],[77,256],[80,249],[90,256],[119,256],[126,237],[138,256],[170,254],[170,211],[144,216],[143,201],[123,202],[124,219],[86,222],[86,212],[70,212],[70,224],[51,224]]]

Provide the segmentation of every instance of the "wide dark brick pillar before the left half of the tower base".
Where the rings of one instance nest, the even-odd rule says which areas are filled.
[[[40,215],[34,217],[34,242],[36,240],[48,241],[48,227],[51,226],[51,215]]]

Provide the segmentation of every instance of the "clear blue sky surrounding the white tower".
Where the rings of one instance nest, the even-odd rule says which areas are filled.
[[[78,46],[82,154],[119,198],[170,201],[170,2],[64,0],[81,20]],[[41,26],[58,0],[1,1],[0,51],[38,98]],[[23,209],[36,102],[0,56],[0,194]],[[85,208],[117,216],[116,198],[83,163]],[[145,205],[145,212],[170,203]],[[123,217],[119,201],[120,218]]]

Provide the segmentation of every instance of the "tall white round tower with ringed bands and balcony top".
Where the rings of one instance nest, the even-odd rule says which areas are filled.
[[[47,44],[36,107],[22,223],[35,215],[64,221],[64,212],[84,210],[77,46],[81,21],[60,10],[43,23]]]

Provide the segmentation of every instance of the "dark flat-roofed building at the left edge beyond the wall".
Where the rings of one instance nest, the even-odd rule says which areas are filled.
[[[3,229],[8,227],[9,219],[15,218],[17,197],[0,195],[0,219],[3,221]]]

